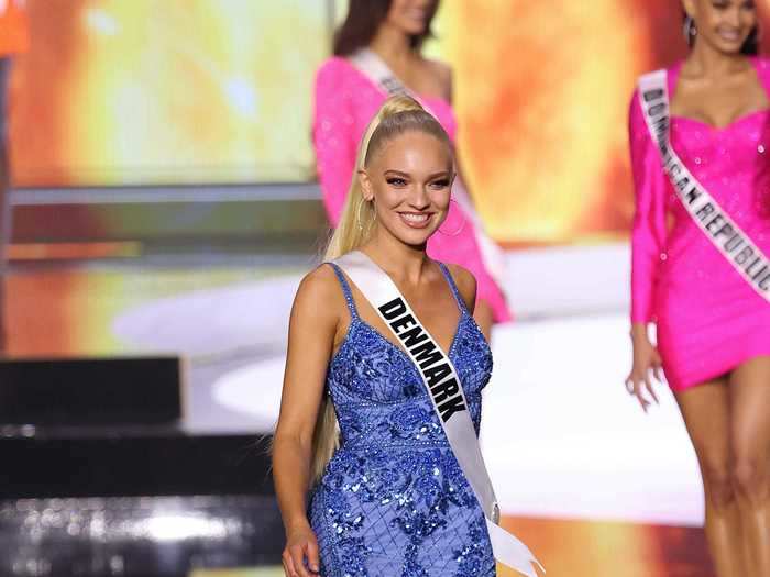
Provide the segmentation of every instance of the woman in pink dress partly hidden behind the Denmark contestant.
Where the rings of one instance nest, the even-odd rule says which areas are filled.
[[[454,141],[457,122],[451,98],[451,71],[420,55],[430,35],[436,0],[360,0],[334,40],[334,56],[316,76],[314,144],[323,202],[337,225],[348,198],[356,145],[370,120],[391,93],[406,91],[417,98]],[[377,71],[382,73],[377,76]],[[479,292],[474,318],[490,336],[494,322],[510,320],[499,284],[495,248],[481,231],[468,197],[453,189],[446,224],[428,243],[431,258],[454,263],[476,277]],[[499,277],[499,275],[497,275]]]

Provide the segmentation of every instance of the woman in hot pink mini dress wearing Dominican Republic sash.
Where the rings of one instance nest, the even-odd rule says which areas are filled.
[[[684,5],[691,53],[660,77],[670,96],[671,149],[711,195],[712,208],[718,204],[759,253],[770,255],[770,62],[756,56],[755,5]],[[646,102],[637,92],[630,109],[637,211],[627,387],[647,410],[650,398],[657,401],[650,374],[666,374],[701,466],[717,575],[768,576],[770,297],[758,287],[770,274],[747,269],[755,260],[728,246],[724,221],[712,225],[708,210],[688,209],[692,198],[682,196],[684,187],[674,190],[663,171]],[[757,252],[754,257],[762,262]],[[657,348],[649,323],[657,325]]]

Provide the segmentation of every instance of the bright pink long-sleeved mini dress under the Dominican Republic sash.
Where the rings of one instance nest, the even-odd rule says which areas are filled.
[[[752,58],[770,93],[770,62]],[[673,99],[681,63],[669,69]],[[673,390],[770,355],[770,303],[693,222],[663,173],[635,93],[630,148],[636,186],[631,321],[656,322],[663,369]],[[671,145],[722,208],[770,254],[770,111],[724,129],[672,116]]]

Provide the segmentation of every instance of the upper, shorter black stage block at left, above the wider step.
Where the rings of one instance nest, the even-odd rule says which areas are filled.
[[[0,424],[170,424],[180,379],[175,356],[0,359]]]

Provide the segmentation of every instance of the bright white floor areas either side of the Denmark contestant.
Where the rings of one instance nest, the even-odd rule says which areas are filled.
[[[623,385],[628,262],[624,244],[508,255],[517,321],[495,330],[482,430],[507,513],[701,523],[697,465],[673,398],[660,387],[661,406],[646,415]],[[298,280],[290,273],[163,299],[113,329],[138,351],[176,351],[194,363],[240,351],[238,363],[202,367],[211,373],[194,391],[188,424],[266,431],[277,418]]]

